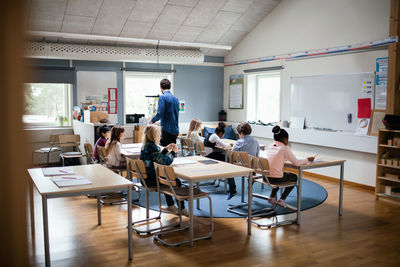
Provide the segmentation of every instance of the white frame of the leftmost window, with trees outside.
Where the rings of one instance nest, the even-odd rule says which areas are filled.
[[[71,128],[72,127],[72,120],[73,120],[73,116],[72,116],[72,111],[73,111],[73,95],[74,95],[74,84],[71,83],[46,83],[46,82],[27,82],[24,83],[24,90],[25,90],[25,85],[27,84],[63,84],[64,86],[66,86],[67,90],[64,90],[63,93],[63,97],[64,99],[66,99],[65,104],[66,104],[66,117],[68,119],[68,124],[65,125],[63,124],[63,126],[58,125],[58,124],[48,124],[48,123],[44,123],[44,122],[40,122],[40,123],[25,123],[23,121],[22,118],[22,123],[24,125],[25,129],[64,129],[64,128]],[[25,99],[24,99],[25,102]],[[23,116],[28,115],[28,114],[23,114]]]

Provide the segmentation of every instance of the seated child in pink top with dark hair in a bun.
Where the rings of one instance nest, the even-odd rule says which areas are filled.
[[[279,126],[275,126],[272,129],[274,134],[275,142],[268,147],[267,159],[269,163],[269,176],[268,180],[271,184],[279,185],[286,182],[296,182],[297,175],[290,172],[283,172],[283,166],[285,160],[290,161],[292,164],[299,166],[302,164],[307,164],[308,162],[314,161],[314,157],[309,157],[307,159],[299,160],[293,155],[289,143],[289,134],[285,129],[281,129]],[[283,192],[281,199],[276,201],[276,193],[279,188],[272,189],[270,198],[268,202],[270,204],[278,204],[284,208],[290,208],[286,203],[285,199],[293,190],[294,186],[286,187]]]

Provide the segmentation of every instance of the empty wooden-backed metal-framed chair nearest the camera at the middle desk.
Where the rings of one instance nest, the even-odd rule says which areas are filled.
[[[158,180],[157,186],[158,186],[158,194],[159,195],[161,193],[168,194],[170,196],[175,197],[175,199],[178,202],[184,201],[184,200],[189,200],[189,187],[176,187],[177,186],[176,175],[175,175],[174,169],[171,166],[164,166],[164,165],[154,163],[154,168],[155,168],[156,176],[157,176],[157,180]],[[161,185],[165,185],[165,186],[161,187]],[[212,237],[212,234],[214,231],[211,197],[207,193],[201,191],[200,189],[193,188],[193,200],[204,198],[204,197],[208,198],[209,205],[210,205],[210,222],[209,222],[209,224],[207,224],[208,226],[210,226],[210,232],[207,235],[194,238],[193,239],[194,241],[200,240],[200,239],[209,239]],[[179,209],[179,222],[181,222],[182,221],[181,207],[178,207],[178,209]],[[170,243],[162,238],[162,236],[165,236],[169,233],[183,231],[185,229],[188,229],[188,227],[186,226],[184,228],[162,231],[162,232],[154,235],[154,240],[157,240],[158,242],[164,244],[165,246],[179,246],[181,244],[189,243],[189,240]]]

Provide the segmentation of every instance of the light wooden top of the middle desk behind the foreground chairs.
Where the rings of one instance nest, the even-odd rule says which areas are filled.
[[[200,160],[210,160],[209,158],[201,156],[185,157],[185,159],[196,161],[196,163],[174,166],[176,175],[185,180],[210,180],[243,175],[247,176],[253,171],[253,169],[250,168],[245,168],[217,160],[215,161],[218,163],[207,165],[198,162]]]

